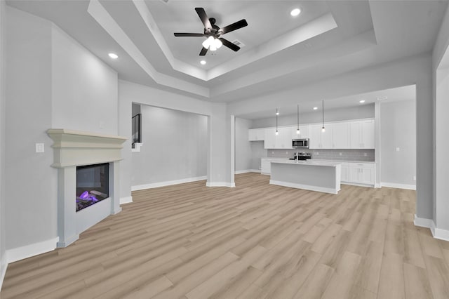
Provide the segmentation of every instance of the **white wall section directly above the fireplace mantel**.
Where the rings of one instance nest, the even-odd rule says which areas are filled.
[[[117,135],[117,73],[55,25],[52,33],[53,128]]]

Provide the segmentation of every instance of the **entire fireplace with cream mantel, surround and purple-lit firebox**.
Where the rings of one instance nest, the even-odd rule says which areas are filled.
[[[58,168],[58,247],[121,211],[120,160],[126,138],[62,128],[47,131]]]

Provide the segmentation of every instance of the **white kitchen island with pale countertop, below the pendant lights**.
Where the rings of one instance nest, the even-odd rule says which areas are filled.
[[[269,183],[284,187],[337,194],[342,165],[333,161],[272,161]]]

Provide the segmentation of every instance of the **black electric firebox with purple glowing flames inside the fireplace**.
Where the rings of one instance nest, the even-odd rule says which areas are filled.
[[[76,212],[109,197],[109,163],[76,166]]]

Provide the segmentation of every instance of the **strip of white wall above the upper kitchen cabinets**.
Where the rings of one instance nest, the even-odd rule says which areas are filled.
[[[356,107],[326,109],[324,107],[324,122],[326,121],[344,121],[347,119],[370,119],[374,118],[374,105],[360,105]],[[300,112],[300,124],[316,124],[322,121],[321,109],[316,112]],[[297,115],[280,115],[278,118],[279,126],[296,126]],[[276,126],[276,117],[269,117],[267,119],[253,120],[252,128],[267,128]]]

